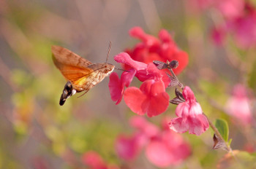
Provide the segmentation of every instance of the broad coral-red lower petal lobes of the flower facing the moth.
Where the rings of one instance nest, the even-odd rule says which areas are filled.
[[[143,82],[140,89],[128,87],[124,91],[124,101],[136,114],[154,117],[166,111],[169,95],[165,92],[165,84],[162,81],[149,79]]]

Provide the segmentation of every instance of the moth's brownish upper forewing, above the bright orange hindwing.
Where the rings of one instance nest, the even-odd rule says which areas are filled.
[[[67,50],[64,47],[52,46],[53,62],[57,68],[60,65],[75,66],[78,68],[85,68],[92,63],[85,58],[81,58],[79,55]]]

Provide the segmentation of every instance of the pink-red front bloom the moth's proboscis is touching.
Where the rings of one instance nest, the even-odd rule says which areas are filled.
[[[124,101],[127,106],[137,114],[148,114],[153,117],[164,112],[169,105],[169,96],[165,93],[165,88],[170,83],[170,78],[154,63],[141,63],[122,52],[114,58],[118,63],[124,63],[130,67],[129,72],[121,74],[121,79],[116,73],[110,74],[108,84],[110,95],[116,104],[120,103],[124,94]],[[143,84],[140,89],[129,87],[124,91],[124,86],[128,87],[133,77],[136,76]]]

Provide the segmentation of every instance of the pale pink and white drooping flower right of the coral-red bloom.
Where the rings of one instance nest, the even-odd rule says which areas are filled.
[[[182,95],[185,98],[184,103],[179,103],[176,108],[176,118],[170,122],[170,129],[177,133],[201,135],[208,127],[208,120],[203,115],[201,106],[195,100],[195,95],[189,87],[184,87]]]

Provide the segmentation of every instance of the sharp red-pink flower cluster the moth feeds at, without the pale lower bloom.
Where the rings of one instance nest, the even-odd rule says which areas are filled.
[[[139,27],[132,28],[129,33],[142,42],[134,49],[114,57],[127,71],[121,74],[121,79],[116,73],[110,74],[110,95],[116,104],[120,103],[124,95],[125,103],[136,114],[154,117],[166,111],[169,105],[169,95],[165,88],[170,84],[170,78],[152,63],[153,60],[178,60],[179,66],[175,70],[178,74],[187,66],[188,55],[178,49],[165,30],[159,32],[159,39],[145,34]],[[129,87],[134,76],[143,82],[140,88]],[[128,87],[127,90],[124,87]]]

